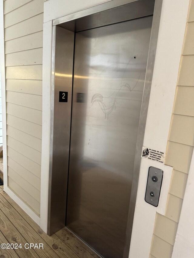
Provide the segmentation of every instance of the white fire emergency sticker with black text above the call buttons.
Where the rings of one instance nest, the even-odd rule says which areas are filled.
[[[147,158],[159,163],[164,163],[166,152],[160,152],[151,148],[142,148],[142,158]]]

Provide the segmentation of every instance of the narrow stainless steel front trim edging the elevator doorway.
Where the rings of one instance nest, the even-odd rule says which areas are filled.
[[[53,149],[53,125],[54,125],[54,74],[55,74],[55,29],[56,25],[61,23],[72,21],[77,18],[81,18],[87,15],[95,14],[100,11],[105,11],[108,9],[112,9],[115,7],[119,7],[125,4],[129,4],[132,2],[137,2],[139,0],[112,0],[108,1],[99,5],[95,5],[93,7],[77,11],[75,13],[66,15],[61,18],[57,18],[53,20],[53,34],[52,34],[52,79],[51,79],[51,134],[50,134],[50,159],[49,159],[49,201],[48,207],[50,207],[50,200],[51,200],[51,175],[52,175],[52,149]],[[156,56],[156,46],[158,40],[158,32],[159,32],[159,24],[160,24],[160,14],[162,10],[162,0],[155,0],[154,6],[154,14],[153,14],[153,21],[152,21],[152,30],[151,30],[151,38],[150,38],[150,45],[149,45],[149,54],[148,54],[148,61],[147,61],[147,68],[146,68],[146,78],[144,84],[144,91],[142,97],[142,107],[140,113],[140,120],[139,120],[139,129],[138,129],[138,138],[137,138],[137,146],[135,152],[135,162],[134,162],[134,172],[133,172],[133,180],[132,180],[132,190],[131,190],[131,198],[130,198],[130,209],[128,215],[128,222],[126,228],[126,240],[125,240],[125,250],[123,254],[123,258],[129,257],[129,247],[130,247],[130,240],[131,240],[131,233],[132,233],[132,225],[133,225],[133,217],[135,212],[135,203],[136,203],[136,196],[137,196],[137,188],[138,188],[138,181],[139,181],[139,170],[140,170],[140,163],[141,163],[141,152],[142,152],[142,145],[144,139],[144,132],[146,127],[146,118],[148,112],[148,104],[149,104],[149,96],[152,84],[152,75],[154,69],[154,61]],[[50,224],[50,216],[49,216],[49,209],[48,209],[48,225]]]

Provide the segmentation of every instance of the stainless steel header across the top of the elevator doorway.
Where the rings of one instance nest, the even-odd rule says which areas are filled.
[[[83,31],[153,15],[154,0],[112,0],[53,20],[70,31]]]

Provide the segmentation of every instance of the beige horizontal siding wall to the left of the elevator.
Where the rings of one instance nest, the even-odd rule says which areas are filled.
[[[40,214],[43,0],[4,1],[8,187]]]

